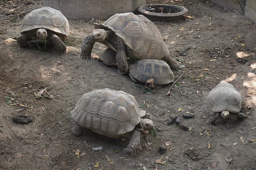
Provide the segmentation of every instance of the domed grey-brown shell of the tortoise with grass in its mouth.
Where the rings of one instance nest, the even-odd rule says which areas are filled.
[[[21,34],[40,28],[60,33],[63,38],[69,35],[68,19],[60,11],[51,7],[43,7],[29,12],[22,20]]]

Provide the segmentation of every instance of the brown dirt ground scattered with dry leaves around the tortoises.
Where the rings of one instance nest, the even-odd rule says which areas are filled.
[[[176,4],[188,9],[178,21],[153,21],[172,56],[180,62],[175,80],[183,75],[177,86],[163,85],[152,94],[146,94],[143,87],[134,88],[131,79],[119,75],[117,68],[80,58],[81,42],[94,29],[92,21],[69,20],[65,55],[57,55],[52,48],[20,48],[15,39],[20,36],[22,18],[42,7],[42,1],[0,2],[1,170],[256,169],[255,24],[236,11],[225,11],[208,1],[147,3]],[[99,21],[103,20],[93,22]],[[105,48],[97,43],[92,53],[100,55]],[[184,49],[187,54],[179,55]],[[231,115],[229,129],[221,118],[214,126],[209,124],[213,112],[208,93],[221,80],[240,92],[241,112],[247,116],[239,121]],[[171,94],[166,95],[171,86]],[[46,87],[54,98],[37,99],[34,93]],[[82,94],[101,88],[132,94],[138,105],[145,106],[143,109],[153,116],[157,136],[143,135],[141,147],[133,156],[123,152],[128,140],[110,139],[86,129],[80,137],[71,134],[74,123],[70,111],[77,100]],[[11,92],[15,98],[8,100]],[[185,112],[195,116],[185,119]],[[12,118],[16,115],[29,115],[33,122],[15,124]],[[189,130],[167,125],[170,116],[178,116]],[[99,146],[102,150],[92,150]],[[160,158],[161,163],[156,163]]]

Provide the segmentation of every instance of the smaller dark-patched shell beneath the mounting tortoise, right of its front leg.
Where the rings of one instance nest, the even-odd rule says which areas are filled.
[[[145,83],[153,78],[156,85],[165,85],[174,81],[174,75],[170,66],[160,60],[139,60],[129,65],[130,75],[139,82]]]

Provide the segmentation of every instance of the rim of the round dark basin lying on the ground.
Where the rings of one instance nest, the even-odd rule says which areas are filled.
[[[149,8],[149,7],[151,8],[156,8],[156,7],[168,8],[169,7],[169,8],[177,8],[181,11],[176,13],[156,13],[156,12],[149,12],[144,10],[145,8]],[[173,20],[180,19],[185,13],[188,12],[188,9],[179,5],[148,4],[148,5],[140,6],[140,8],[138,8],[138,11],[150,20],[173,21]]]

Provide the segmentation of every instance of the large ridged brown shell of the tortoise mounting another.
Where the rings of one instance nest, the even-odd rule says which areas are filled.
[[[116,33],[131,50],[134,59],[157,59],[168,56],[163,37],[156,26],[143,15],[132,12],[115,14],[103,24],[94,23],[95,29],[106,29]]]

